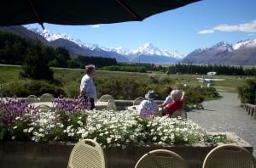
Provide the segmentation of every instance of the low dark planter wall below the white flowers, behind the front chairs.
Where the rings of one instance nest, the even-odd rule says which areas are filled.
[[[229,134],[229,137],[250,153],[253,147]],[[161,147],[157,145],[130,146],[127,148],[108,148],[105,154],[108,161],[108,168],[132,168],[136,165],[143,154],[147,152],[165,148],[180,154],[189,163],[191,168],[201,167],[206,155],[221,143],[195,143],[191,145],[176,145]],[[73,143],[0,143],[0,167],[9,168],[62,168],[67,167],[69,154],[72,151]]]

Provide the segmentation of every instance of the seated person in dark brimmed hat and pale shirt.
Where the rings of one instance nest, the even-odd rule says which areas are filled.
[[[158,95],[155,94],[154,90],[149,90],[145,95],[146,100],[143,100],[138,108],[138,115],[154,115],[155,111],[158,110],[158,105],[154,102],[154,99]]]

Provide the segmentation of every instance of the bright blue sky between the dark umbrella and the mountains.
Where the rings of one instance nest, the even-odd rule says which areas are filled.
[[[51,32],[103,47],[136,49],[151,42],[158,48],[187,54],[221,41],[256,38],[255,8],[256,0],[203,0],[142,22],[44,26]]]

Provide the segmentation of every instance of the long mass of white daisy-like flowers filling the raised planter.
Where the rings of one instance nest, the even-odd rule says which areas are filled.
[[[5,117],[2,120],[9,119],[5,109],[0,113],[0,118]],[[81,139],[91,138],[96,139],[102,148],[125,148],[131,144],[172,145],[227,140],[223,135],[207,135],[201,126],[191,120],[167,116],[147,118],[137,115],[137,111],[63,108],[38,111],[31,108],[24,113],[20,113],[20,109],[18,112],[17,115],[12,109],[12,120],[1,123],[0,126],[6,131],[0,135],[0,141],[76,143]]]

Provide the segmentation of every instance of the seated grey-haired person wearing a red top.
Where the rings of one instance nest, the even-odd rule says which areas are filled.
[[[171,92],[172,103],[166,106],[166,115],[171,116],[177,109],[183,109],[183,99],[185,92],[173,90]]]

